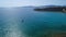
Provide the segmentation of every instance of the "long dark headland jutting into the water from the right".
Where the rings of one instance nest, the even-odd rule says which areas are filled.
[[[63,11],[66,12],[65,5],[44,5],[34,9],[35,11]]]

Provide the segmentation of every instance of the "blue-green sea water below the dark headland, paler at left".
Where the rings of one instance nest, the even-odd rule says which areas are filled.
[[[66,30],[66,13],[38,12],[33,8],[0,9],[0,37],[44,37]]]

